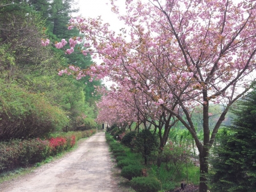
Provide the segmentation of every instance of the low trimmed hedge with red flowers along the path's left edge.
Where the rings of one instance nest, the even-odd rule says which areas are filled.
[[[96,130],[55,134],[50,139],[13,139],[9,142],[0,142],[0,173],[3,170],[13,169],[40,162],[49,156],[68,150],[78,139],[90,137]]]

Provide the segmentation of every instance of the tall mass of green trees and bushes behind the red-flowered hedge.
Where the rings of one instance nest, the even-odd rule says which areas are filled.
[[[70,63],[83,69],[92,63],[90,55],[65,55],[53,45],[60,37],[79,34],[67,29],[70,13],[77,11],[74,1],[4,2],[0,6],[0,90],[4,90],[0,91],[0,133],[5,131],[0,139],[44,136],[66,126],[69,131],[95,128],[99,97],[92,93],[101,81],[57,75]],[[42,47],[41,38],[49,38],[52,46]]]

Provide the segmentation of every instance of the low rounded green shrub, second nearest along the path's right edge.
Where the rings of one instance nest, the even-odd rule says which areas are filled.
[[[133,177],[140,177],[142,176],[142,166],[141,165],[128,165],[122,168],[121,170],[121,176],[132,180]]]

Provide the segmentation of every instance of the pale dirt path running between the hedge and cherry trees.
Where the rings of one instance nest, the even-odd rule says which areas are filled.
[[[111,177],[111,162],[105,134],[97,133],[61,159],[34,173],[0,185],[0,192],[120,192]]]

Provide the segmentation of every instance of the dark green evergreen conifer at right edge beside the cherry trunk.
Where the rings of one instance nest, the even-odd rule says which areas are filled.
[[[237,117],[220,136],[210,159],[211,191],[246,192],[256,187],[256,89],[232,110]]]

